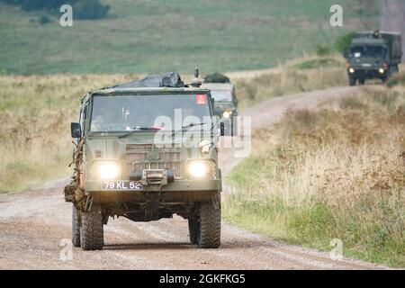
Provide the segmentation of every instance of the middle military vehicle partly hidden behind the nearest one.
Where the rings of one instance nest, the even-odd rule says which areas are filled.
[[[210,89],[214,98],[214,114],[220,117],[225,125],[225,135],[238,134],[238,98],[235,85],[230,83],[229,77],[219,73],[205,76],[202,87]]]

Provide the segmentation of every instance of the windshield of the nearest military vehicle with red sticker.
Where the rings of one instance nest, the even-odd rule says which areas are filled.
[[[207,94],[93,96],[91,131],[211,128]]]

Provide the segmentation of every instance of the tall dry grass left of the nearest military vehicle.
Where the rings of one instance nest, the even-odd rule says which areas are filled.
[[[69,175],[69,122],[92,88],[133,76],[0,76],[0,193]]]

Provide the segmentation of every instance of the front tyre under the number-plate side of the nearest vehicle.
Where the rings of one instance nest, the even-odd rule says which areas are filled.
[[[93,204],[91,211],[80,213],[80,245],[83,250],[103,248],[103,214],[101,206]]]

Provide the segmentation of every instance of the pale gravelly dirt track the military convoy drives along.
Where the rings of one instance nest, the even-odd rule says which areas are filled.
[[[355,91],[353,87],[275,98],[249,109],[255,129],[270,125],[287,109],[313,107]],[[238,163],[231,151],[221,155],[227,173]],[[331,260],[329,253],[293,247],[224,224],[219,249],[197,249],[188,242],[187,222],[179,217],[155,222],[120,218],[104,227],[105,247],[60,260],[70,238],[71,204],[64,202],[67,179],[25,193],[0,195],[0,268],[39,269],[374,269],[351,259]],[[62,246],[60,243],[62,241]],[[66,242],[63,242],[66,241]]]

